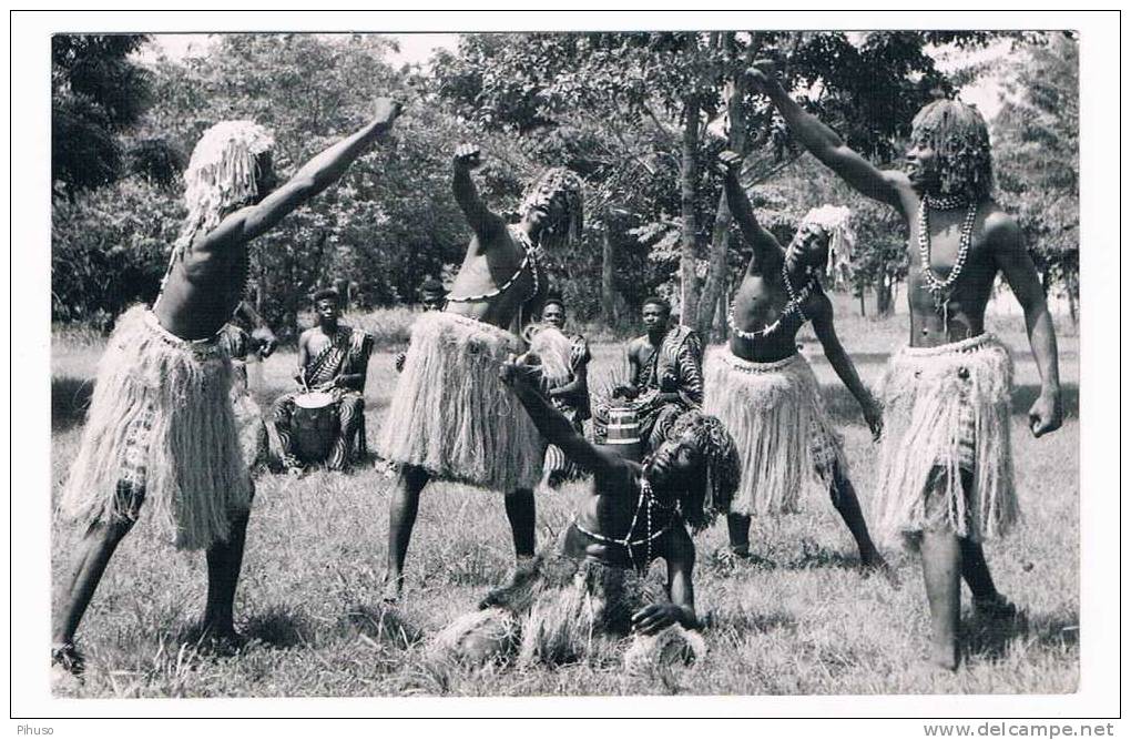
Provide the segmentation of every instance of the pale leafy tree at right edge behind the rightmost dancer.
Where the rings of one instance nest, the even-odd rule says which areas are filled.
[[[1079,41],[1050,34],[1020,48],[994,120],[1002,205],[1017,216],[1045,291],[1080,291]]]

